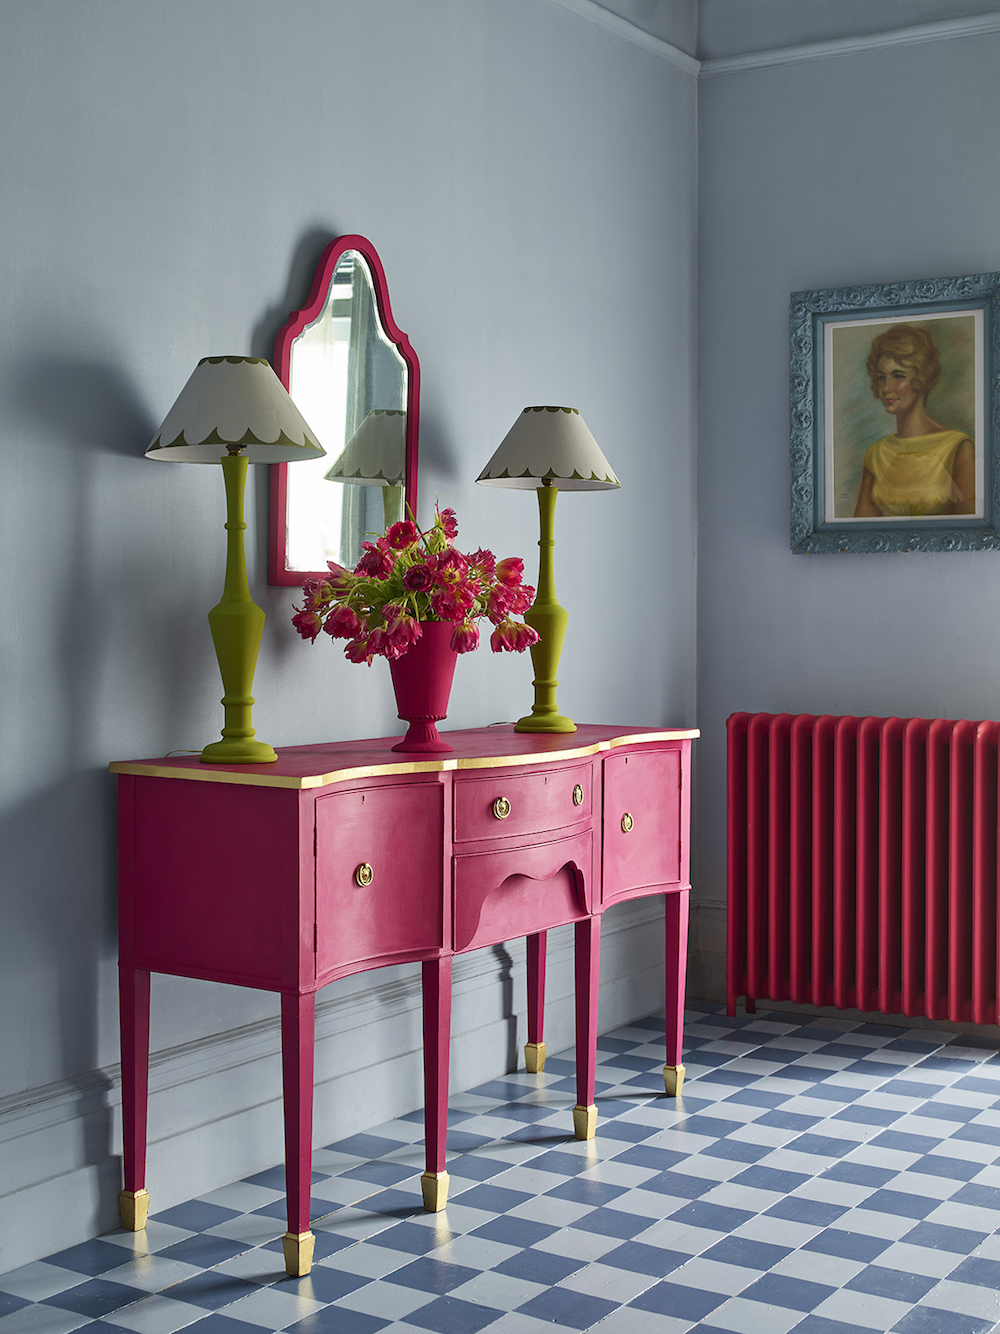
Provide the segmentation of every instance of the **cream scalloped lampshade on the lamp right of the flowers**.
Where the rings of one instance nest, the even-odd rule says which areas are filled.
[[[556,407],[525,408],[476,480],[524,491],[547,482],[559,491],[621,486],[577,410]]]

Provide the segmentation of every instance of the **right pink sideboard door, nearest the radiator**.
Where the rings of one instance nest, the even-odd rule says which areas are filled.
[[[681,878],[681,752],[604,760],[603,902]]]

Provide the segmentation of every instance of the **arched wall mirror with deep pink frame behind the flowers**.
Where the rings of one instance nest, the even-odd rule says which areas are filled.
[[[327,451],[271,468],[268,583],[301,584],[416,512],[420,364],[364,236],[339,236],[275,340],[275,371]]]

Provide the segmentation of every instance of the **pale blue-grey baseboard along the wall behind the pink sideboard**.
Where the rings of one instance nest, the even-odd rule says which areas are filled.
[[[613,908],[601,942],[600,1031],[663,1007],[659,899]],[[455,960],[453,1093],[523,1065],[524,942]],[[345,978],[316,1007],[313,1143],[423,1105],[420,968]],[[545,1042],[573,1042],[573,932],[549,932]],[[109,1066],[0,1099],[0,1273],[119,1226],[121,1082]],[[281,1161],[277,1018],[153,1053],[151,1213]]]

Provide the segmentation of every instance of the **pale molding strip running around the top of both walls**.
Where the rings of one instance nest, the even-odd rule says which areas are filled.
[[[880,51],[885,47],[913,47],[925,41],[948,41],[953,37],[980,37],[1000,32],[1000,11],[975,15],[969,19],[941,19],[939,23],[921,23],[911,28],[892,28],[887,32],[871,32],[860,37],[833,37],[829,41],[807,41],[799,47],[777,47],[773,51],[751,51],[741,56],[720,56],[712,60],[696,60],[680,47],[653,37],[637,28],[628,19],[611,13],[597,0],[549,0],[560,9],[568,9],[577,19],[585,19],[597,28],[631,41],[652,55],[659,56],[676,69],[695,79],[716,79],[720,75],[744,73],[748,69],[769,69],[775,65],[795,65],[808,60],[829,60],[832,56],[855,56],[863,51]]]

